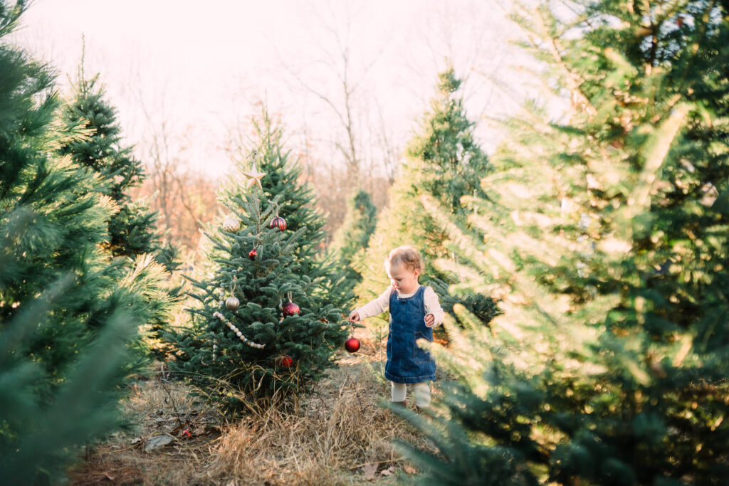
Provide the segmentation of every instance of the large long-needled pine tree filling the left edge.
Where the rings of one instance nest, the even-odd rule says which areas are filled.
[[[0,476],[60,482],[79,446],[120,423],[136,329],[169,312],[162,269],[109,263],[113,204],[58,146],[50,68],[5,42],[26,9],[0,1]],[[149,305],[155,302],[155,306]]]

